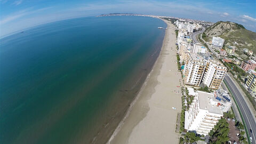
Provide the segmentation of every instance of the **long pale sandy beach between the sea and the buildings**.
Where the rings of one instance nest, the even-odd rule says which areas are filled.
[[[174,26],[168,22],[162,51],[137,99],[108,143],[178,143],[181,74],[177,69]],[[176,109],[173,109],[176,108]]]

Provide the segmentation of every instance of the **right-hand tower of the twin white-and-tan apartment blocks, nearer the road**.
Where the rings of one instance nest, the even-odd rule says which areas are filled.
[[[203,76],[203,83],[210,89],[218,90],[225,75],[227,68],[218,61],[208,60]]]

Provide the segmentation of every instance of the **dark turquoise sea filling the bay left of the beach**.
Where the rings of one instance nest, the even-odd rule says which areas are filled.
[[[151,70],[148,17],[49,23],[0,39],[0,143],[104,143]]]

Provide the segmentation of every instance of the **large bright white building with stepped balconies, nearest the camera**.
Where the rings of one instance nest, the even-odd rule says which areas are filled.
[[[225,105],[225,102],[223,102]],[[189,110],[185,111],[185,129],[207,135],[223,116],[219,97],[197,91]],[[229,106],[225,106],[227,109]]]

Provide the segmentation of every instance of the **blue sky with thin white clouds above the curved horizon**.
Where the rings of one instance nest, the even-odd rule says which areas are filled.
[[[256,31],[256,0],[0,0],[0,36],[43,23],[113,12],[155,14],[212,22],[234,21]]]

